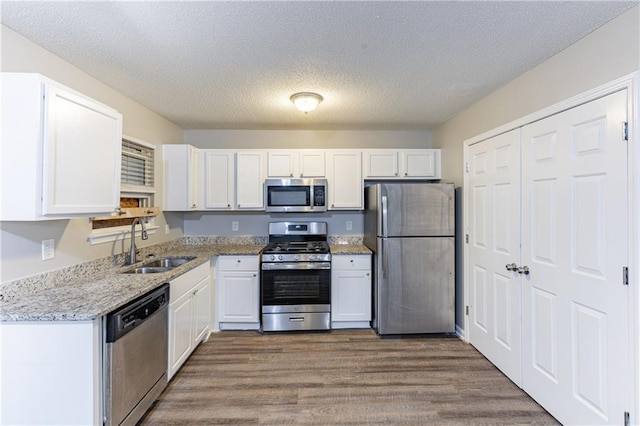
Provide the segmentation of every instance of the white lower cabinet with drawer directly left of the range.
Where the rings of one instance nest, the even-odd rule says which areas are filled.
[[[221,330],[260,328],[258,256],[220,256],[216,266],[216,300]]]

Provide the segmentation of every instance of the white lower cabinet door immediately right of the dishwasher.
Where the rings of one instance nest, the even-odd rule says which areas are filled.
[[[169,305],[169,378],[193,350],[193,295],[187,293]]]

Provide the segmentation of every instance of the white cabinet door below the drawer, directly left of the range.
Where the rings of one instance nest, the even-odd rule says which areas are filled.
[[[257,271],[220,271],[220,322],[259,322]]]

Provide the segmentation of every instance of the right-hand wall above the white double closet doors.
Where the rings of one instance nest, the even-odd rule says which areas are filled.
[[[640,69],[639,39],[636,6],[438,126],[443,179],[462,185],[466,139]]]

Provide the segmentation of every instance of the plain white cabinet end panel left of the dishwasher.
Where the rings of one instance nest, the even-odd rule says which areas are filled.
[[[102,424],[102,318],[0,323],[0,425]]]

